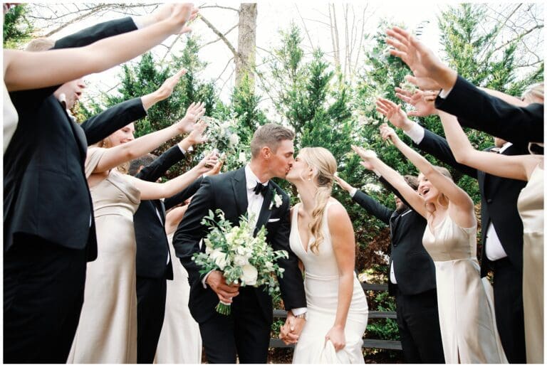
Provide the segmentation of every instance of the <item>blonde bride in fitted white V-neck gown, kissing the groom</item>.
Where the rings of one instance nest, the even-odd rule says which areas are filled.
[[[289,242],[303,265],[308,304],[293,363],[365,363],[368,305],[354,272],[350,217],[330,196],[336,167],[327,149],[303,148],[286,176],[301,198],[291,209]],[[281,328],[286,343],[297,338],[290,321]]]

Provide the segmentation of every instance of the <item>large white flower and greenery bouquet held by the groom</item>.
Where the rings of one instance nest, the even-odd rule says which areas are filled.
[[[284,269],[276,264],[276,260],[288,258],[287,252],[273,251],[266,243],[264,225],[253,237],[254,228],[245,216],[241,216],[239,225],[231,225],[220,209],[215,213],[219,220],[215,220],[213,211],[209,211],[209,215],[202,220],[202,224],[208,225],[210,230],[204,238],[205,252],[196,252],[192,257],[202,267],[200,274],[220,270],[228,284],[265,285],[264,291],[269,294],[278,291],[276,276],[283,277]],[[217,312],[228,315],[231,305],[219,302]]]

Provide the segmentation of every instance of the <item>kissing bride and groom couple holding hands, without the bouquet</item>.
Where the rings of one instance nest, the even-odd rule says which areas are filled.
[[[266,226],[266,241],[273,250],[288,252],[288,258],[277,261],[284,269],[278,280],[288,311],[281,336],[287,343],[298,340],[293,362],[364,362],[361,338],[368,307],[354,272],[350,218],[330,198],[336,161],[323,148],[302,149],[295,161],[293,139],[290,129],[277,124],[257,129],[249,164],[206,177],[174,233],[177,257],[189,275],[189,309],[199,324],[209,363],[236,363],[236,358],[239,363],[266,363],[273,321],[271,297],[261,287],[226,284],[218,270],[200,275],[192,261],[194,252],[204,251],[200,240],[207,227],[202,218],[216,209],[233,224],[246,213],[256,218],[256,230]],[[301,194],[303,202],[293,208],[292,219],[288,196],[273,177],[288,179]],[[271,205],[274,193],[281,196],[281,205]],[[299,258],[306,268],[306,292]],[[219,301],[231,304],[231,314],[216,312]]]

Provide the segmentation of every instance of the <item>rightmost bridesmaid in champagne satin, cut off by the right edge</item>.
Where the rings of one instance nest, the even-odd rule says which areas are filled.
[[[456,117],[439,111],[444,134],[461,164],[528,181],[517,201],[524,228],[523,280],[526,362],[543,363],[543,154],[506,156],[475,150]]]

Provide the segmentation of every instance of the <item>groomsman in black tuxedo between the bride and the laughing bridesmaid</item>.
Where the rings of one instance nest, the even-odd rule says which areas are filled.
[[[370,163],[365,164],[368,165],[366,168],[373,169]],[[338,176],[336,181],[368,213],[390,226],[388,289],[395,296],[397,304],[397,325],[405,361],[444,363],[435,266],[422,245],[427,221],[413,211],[397,190],[382,177],[380,181],[395,192],[395,211],[382,206]],[[417,190],[418,182],[414,176],[405,176],[405,181]]]

